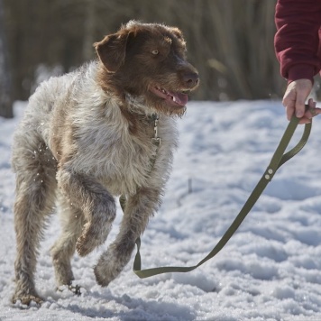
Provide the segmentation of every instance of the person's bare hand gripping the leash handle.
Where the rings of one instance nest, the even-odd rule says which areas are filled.
[[[312,82],[309,79],[298,79],[289,84],[282,101],[288,120],[295,114],[300,118],[299,124],[307,124],[312,117],[321,114],[321,108],[316,108],[316,102],[312,98],[308,100],[309,108],[306,111],[305,102],[311,89]]]

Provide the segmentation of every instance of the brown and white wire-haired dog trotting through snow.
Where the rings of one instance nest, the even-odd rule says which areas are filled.
[[[34,274],[56,205],[62,226],[51,255],[59,288],[74,280],[75,250],[86,256],[105,243],[115,197],[125,197],[120,232],[94,268],[105,287],[130,260],[170,176],[176,121],[199,83],[182,32],[131,21],[94,46],[96,60],[41,83],[14,133],[13,302],[43,300]]]

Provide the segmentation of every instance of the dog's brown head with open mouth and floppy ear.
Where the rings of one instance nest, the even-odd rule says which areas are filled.
[[[199,78],[186,59],[186,42],[178,28],[131,21],[95,47],[104,65],[100,84],[105,90],[143,99],[167,115],[184,113]]]

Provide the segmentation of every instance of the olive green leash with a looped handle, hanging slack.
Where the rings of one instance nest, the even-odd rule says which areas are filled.
[[[249,212],[252,209],[252,206],[256,203],[258,198],[261,196],[261,193],[263,192],[264,188],[269,184],[273,176],[275,175],[276,171],[280,168],[281,165],[283,165],[286,161],[289,161],[293,156],[295,156],[298,151],[301,151],[302,148],[307,143],[307,139],[309,137],[309,134],[311,132],[311,126],[312,124],[306,124],[304,128],[304,133],[302,134],[302,137],[298,144],[288,151],[287,153],[284,153],[289,145],[289,142],[291,141],[291,138],[293,136],[293,133],[295,132],[297,126],[298,126],[299,119],[296,116],[293,116],[291,121],[288,124],[288,127],[283,134],[279,146],[277,147],[276,151],[274,152],[271,162],[267,169],[265,170],[263,176],[261,177],[260,181],[256,185],[256,187],[253,189],[252,194],[244,204],[243,208],[241,209],[240,213],[236,218],[234,219],[234,222],[232,225],[227,229],[221,240],[216,244],[214,249],[209,252],[209,254],[202,260],[197,263],[197,265],[194,266],[188,266],[188,267],[179,267],[179,266],[168,266],[168,267],[160,267],[160,268],[153,268],[153,269],[146,269],[142,270],[142,261],[141,261],[141,254],[140,254],[140,248],[141,248],[141,239],[138,238],[136,240],[137,244],[137,253],[135,256],[135,259],[133,261],[133,271],[134,273],[140,277],[141,279],[149,278],[154,275],[162,274],[162,273],[169,273],[169,272],[189,272],[197,269],[200,265],[205,263],[206,261],[212,259],[218,252],[220,252],[225,244],[229,241],[229,239],[233,236],[233,234],[236,232],[238,227],[242,224],[244,218],[249,214]],[[124,206],[124,197],[121,197],[121,204]]]

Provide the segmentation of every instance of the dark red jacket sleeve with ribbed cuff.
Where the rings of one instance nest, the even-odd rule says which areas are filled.
[[[289,82],[313,81],[321,68],[321,0],[278,0],[275,23],[280,74]]]

